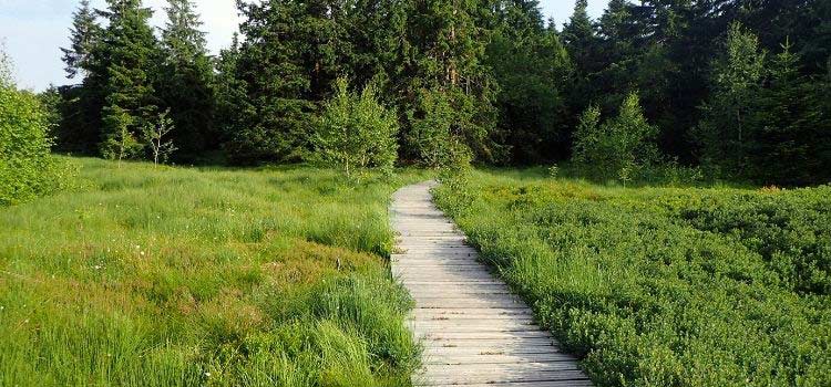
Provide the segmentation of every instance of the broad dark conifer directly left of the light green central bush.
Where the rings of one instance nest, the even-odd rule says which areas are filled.
[[[311,28],[307,4],[270,0],[239,3],[239,9],[246,39],[235,72],[244,97],[235,102],[235,116],[225,129],[230,136],[226,150],[237,164],[300,160],[309,149],[318,107],[311,100],[312,72],[319,82],[324,71],[308,65],[318,55],[306,51]]]

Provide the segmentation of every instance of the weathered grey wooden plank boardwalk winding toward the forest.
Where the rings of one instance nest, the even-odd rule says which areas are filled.
[[[400,234],[392,271],[416,299],[413,332],[424,345],[416,386],[592,386],[531,310],[465,244],[432,203],[432,182],[396,192]]]

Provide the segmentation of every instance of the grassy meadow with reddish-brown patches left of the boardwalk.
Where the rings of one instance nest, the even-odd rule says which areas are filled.
[[[399,386],[397,182],[73,159],[89,188],[0,209],[0,386]]]

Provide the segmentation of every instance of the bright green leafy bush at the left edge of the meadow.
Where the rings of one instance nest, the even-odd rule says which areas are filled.
[[[50,155],[49,115],[38,96],[17,88],[0,51],[0,206],[62,189],[71,172]]]

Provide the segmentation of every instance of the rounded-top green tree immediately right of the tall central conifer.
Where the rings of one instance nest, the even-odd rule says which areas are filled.
[[[510,147],[514,163],[563,159],[568,153],[568,53],[544,28],[537,1],[500,1],[494,13],[486,64],[500,85],[500,142]]]

